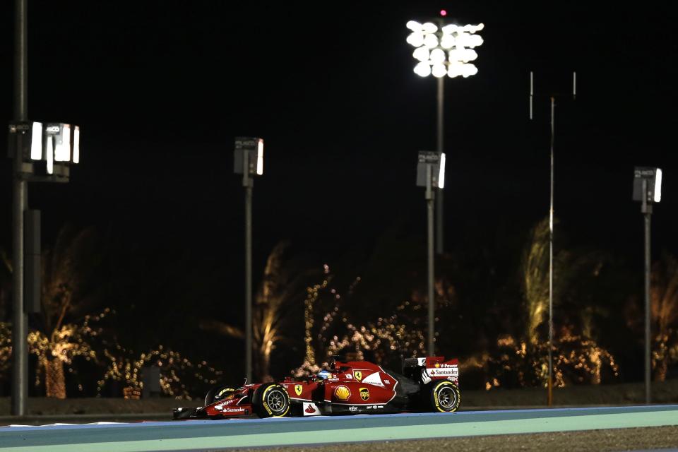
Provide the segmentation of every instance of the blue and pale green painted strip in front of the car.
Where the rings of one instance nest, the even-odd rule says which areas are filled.
[[[678,405],[0,427],[11,452],[180,451],[678,425]]]

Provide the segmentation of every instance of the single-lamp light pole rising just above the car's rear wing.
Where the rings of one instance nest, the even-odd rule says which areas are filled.
[[[435,293],[434,293],[434,189],[445,186],[445,153],[420,150],[417,162],[417,186],[426,188],[427,210],[427,280],[428,280],[428,334],[427,355],[435,356]]]

